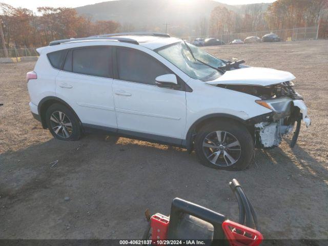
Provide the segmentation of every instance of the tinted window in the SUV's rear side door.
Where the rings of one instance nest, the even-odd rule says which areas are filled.
[[[73,73],[112,77],[112,49],[110,47],[90,47],[73,50]],[[67,57],[69,71],[69,56]],[[66,64],[65,64],[66,65]]]

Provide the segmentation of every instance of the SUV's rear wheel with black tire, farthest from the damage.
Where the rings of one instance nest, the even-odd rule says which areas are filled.
[[[61,112],[61,116],[63,116],[64,113],[64,119],[59,119],[59,112]],[[51,116],[54,116],[52,119]],[[53,119],[58,120],[59,122],[56,123]],[[68,109],[66,106],[62,104],[52,104],[46,112],[46,122],[48,129],[50,133],[54,136],[54,138],[57,138],[59,140],[65,140],[65,141],[75,141],[78,140],[81,137],[81,127],[79,124],[78,118],[75,116],[75,114]],[[61,126],[56,127],[56,125],[60,124]],[[64,124],[67,126],[64,127]],[[71,127],[69,126],[71,125]],[[60,128],[61,127],[61,128]],[[58,130],[59,128],[59,130]],[[65,128],[65,131],[64,131]],[[58,133],[55,132],[55,130],[58,130]],[[68,135],[67,135],[68,133]]]

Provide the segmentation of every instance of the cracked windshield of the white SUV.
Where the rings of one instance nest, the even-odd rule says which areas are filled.
[[[193,53],[190,52],[188,46]],[[212,66],[209,63],[213,64],[213,67],[219,67],[224,65],[223,61],[200,50],[196,46],[191,44],[188,44],[188,46],[186,43],[180,42],[162,48],[157,53],[194,79],[210,81],[221,76],[218,70],[209,67]],[[203,63],[209,64],[209,66]]]

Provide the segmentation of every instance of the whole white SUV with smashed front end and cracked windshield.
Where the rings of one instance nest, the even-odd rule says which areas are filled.
[[[293,74],[231,63],[168,34],[57,40],[37,51],[30,108],[60,140],[114,133],[195,149],[204,165],[237,170],[294,125],[295,145],[301,120],[311,122]]]

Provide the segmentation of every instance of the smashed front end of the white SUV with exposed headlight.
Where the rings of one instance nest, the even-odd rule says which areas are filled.
[[[260,115],[248,120],[254,126],[255,143],[257,148],[276,147],[282,141],[282,136],[293,132],[291,147],[298,138],[301,120],[309,127],[311,120],[303,98],[293,89],[291,81],[270,86],[256,85],[217,85],[225,89],[251,94],[261,98],[255,102],[272,110],[271,113]]]

